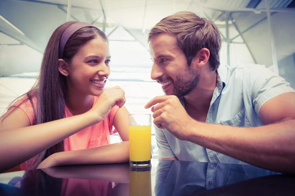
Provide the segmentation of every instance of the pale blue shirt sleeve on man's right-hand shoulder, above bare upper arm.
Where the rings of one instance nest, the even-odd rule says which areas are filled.
[[[284,78],[262,65],[251,69],[250,85],[253,106],[257,114],[259,114],[261,106],[269,99],[283,93],[295,92]]]

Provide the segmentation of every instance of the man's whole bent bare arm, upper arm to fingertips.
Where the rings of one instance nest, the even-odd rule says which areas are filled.
[[[197,122],[175,96],[156,97],[146,108],[156,103],[152,108],[154,124],[178,139],[261,168],[295,173],[295,93],[266,101],[259,115],[268,125],[250,128]]]

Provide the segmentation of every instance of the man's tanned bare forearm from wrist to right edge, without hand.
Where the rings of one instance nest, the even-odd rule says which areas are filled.
[[[295,120],[260,127],[195,122],[187,138],[251,165],[295,173]]]

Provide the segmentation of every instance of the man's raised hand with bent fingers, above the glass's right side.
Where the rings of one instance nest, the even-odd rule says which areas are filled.
[[[155,97],[145,106],[146,109],[150,107],[153,123],[158,128],[165,128],[178,139],[187,140],[195,121],[186,113],[176,96]]]

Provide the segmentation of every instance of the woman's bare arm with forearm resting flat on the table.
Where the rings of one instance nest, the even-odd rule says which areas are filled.
[[[90,149],[58,152],[45,159],[39,168],[61,165],[89,165],[105,163],[125,163],[129,161],[128,126],[129,112],[123,106],[118,109],[113,124],[125,142]]]

